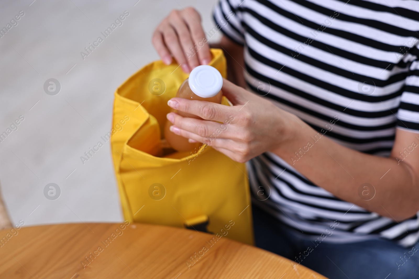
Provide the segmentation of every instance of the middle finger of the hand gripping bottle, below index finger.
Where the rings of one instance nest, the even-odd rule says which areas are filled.
[[[195,133],[202,138],[232,138],[234,127],[214,121],[182,117],[176,113],[168,113],[167,119],[176,127]],[[233,129],[233,130],[231,130]],[[233,132],[232,132],[233,131]]]

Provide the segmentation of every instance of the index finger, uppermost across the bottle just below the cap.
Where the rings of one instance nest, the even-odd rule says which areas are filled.
[[[169,107],[180,110],[182,113],[190,113],[205,120],[218,122],[228,121],[231,115],[235,114],[237,110],[237,107],[228,107],[213,102],[186,100],[183,98],[172,98],[167,104]]]

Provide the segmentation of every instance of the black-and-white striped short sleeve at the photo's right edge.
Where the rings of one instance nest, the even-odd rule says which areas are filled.
[[[409,54],[413,61],[401,94],[397,126],[419,133],[419,44],[412,47]]]

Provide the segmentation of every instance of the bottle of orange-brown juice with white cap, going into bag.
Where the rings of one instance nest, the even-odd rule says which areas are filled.
[[[200,100],[207,102],[215,102],[220,104],[222,98],[222,76],[214,67],[201,65],[194,68],[189,74],[189,78],[179,87],[176,97],[189,100]],[[202,119],[197,115],[184,113],[179,110],[172,110],[183,117]],[[202,143],[190,143],[188,138],[178,136],[170,131],[173,125],[167,120],[164,127],[164,135],[170,146],[177,151],[190,151],[199,148]]]

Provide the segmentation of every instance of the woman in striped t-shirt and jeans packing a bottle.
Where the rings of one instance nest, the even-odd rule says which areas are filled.
[[[222,31],[234,106],[173,98],[204,120],[167,118],[248,161],[256,245],[331,279],[417,278],[419,2],[220,0],[214,19],[174,10],[153,44],[189,72]]]

